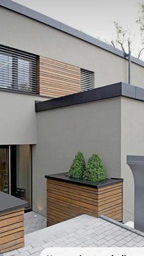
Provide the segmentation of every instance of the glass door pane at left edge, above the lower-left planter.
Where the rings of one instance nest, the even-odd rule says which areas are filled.
[[[0,191],[10,194],[9,146],[0,146]]]

